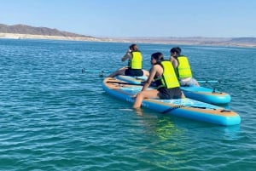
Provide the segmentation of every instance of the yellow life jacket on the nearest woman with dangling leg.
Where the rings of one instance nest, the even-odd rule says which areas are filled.
[[[160,78],[161,85],[157,88],[177,88],[180,87],[179,82],[177,80],[177,76],[175,70],[172,66],[172,63],[169,60],[164,60],[160,62],[160,65],[163,67],[163,75]],[[157,80],[156,79],[156,80]],[[155,81],[156,81],[155,80]]]

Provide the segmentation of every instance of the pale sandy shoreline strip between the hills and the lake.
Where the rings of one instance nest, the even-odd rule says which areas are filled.
[[[0,33],[0,38],[10,39],[50,39],[67,41],[87,41],[87,42],[112,42],[112,43],[160,43],[177,45],[205,45],[205,46],[226,46],[256,48],[256,43],[234,43],[229,42],[228,38],[207,38],[207,37],[61,37],[44,36],[32,34]]]

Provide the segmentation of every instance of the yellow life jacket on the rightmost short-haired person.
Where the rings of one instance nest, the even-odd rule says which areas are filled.
[[[177,56],[177,75],[179,78],[192,77],[189,60],[186,56]]]

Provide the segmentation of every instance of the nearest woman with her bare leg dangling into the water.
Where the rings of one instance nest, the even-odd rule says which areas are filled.
[[[164,55],[157,52],[151,55],[151,65],[148,80],[144,83],[142,91],[136,95],[133,108],[139,108],[143,100],[148,98],[162,100],[185,98],[170,60],[164,60]],[[157,88],[147,90],[153,80]]]

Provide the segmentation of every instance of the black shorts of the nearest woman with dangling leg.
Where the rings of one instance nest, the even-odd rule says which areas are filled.
[[[159,88],[158,91],[161,100],[180,99],[182,97],[180,88]]]

